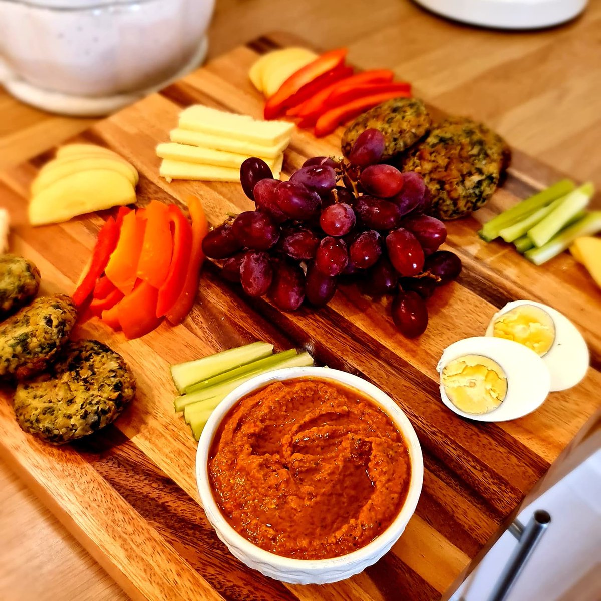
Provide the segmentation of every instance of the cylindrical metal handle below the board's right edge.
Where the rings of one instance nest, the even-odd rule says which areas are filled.
[[[507,599],[507,595],[513,585],[516,584],[517,577],[532,555],[532,551],[540,542],[540,538],[545,534],[549,523],[551,523],[549,513],[538,510],[534,512],[525,528],[517,520],[509,526],[509,531],[518,540],[517,547],[511,554],[503,573],[499,576],[489,601],[504,601]]]

